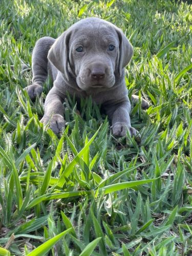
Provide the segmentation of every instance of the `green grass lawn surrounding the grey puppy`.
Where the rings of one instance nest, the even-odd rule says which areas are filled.
[[[1,1],[0,255],[192,253],[191,11],[189,1]],[[126,86],[151,103],[132,108],[141,141],[114,138],[91,98],[80,115],[68,98],[56,136],[39,123],[51,82],[35,102],[20,93],[35,41],[87,16],[132,42]]]

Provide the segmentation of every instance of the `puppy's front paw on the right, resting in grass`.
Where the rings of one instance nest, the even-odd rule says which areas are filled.
[[[138,131],[131,126],[127,126],[123,122],[117,122],[114,125],[111,126],[112,132],[114,136],[123,137],[126,135],[126,131],[128,130],[130,135],[136,136],[138,134]]]

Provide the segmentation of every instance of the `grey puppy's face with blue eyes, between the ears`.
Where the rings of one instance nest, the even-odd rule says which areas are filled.
[[[111,88],[119,59],[118,34],[110,26],[77,28],[69,41],[69,65],[82,90]]]

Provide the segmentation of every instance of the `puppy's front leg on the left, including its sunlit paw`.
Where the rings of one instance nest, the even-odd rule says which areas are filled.
[[[40,122],[48,124],[54,133],[59,133],[63,127],[65,127],[65,119],[63,118],[63,101],[65,96],[61,97],[61,94],[53,87],[45,101],[45,114]]]

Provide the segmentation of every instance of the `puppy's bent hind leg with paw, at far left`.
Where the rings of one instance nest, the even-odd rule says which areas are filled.
[[[32,84],[26,87],[31,99],[36,98],[42,92],[42,85],[48,76],[48,52],[55,39],[42,37],[37,42],[32,53]]]

